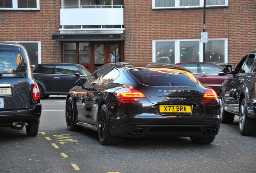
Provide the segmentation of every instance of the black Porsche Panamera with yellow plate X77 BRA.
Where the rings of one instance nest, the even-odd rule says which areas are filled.
[[[105,64],[76,84],[66,97],[68,130],[97,131],[103,145],[146,136],[190,137],[208,144],[219,131],[217,94],[182,66]]]

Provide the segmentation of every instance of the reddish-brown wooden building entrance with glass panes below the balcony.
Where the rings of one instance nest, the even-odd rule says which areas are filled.
[[[123,42],[63,42],[63,62],[82,64],[94,72],[103,64],[124,61]]]

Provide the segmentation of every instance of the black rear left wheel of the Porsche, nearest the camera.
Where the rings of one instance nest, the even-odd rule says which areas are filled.
[[[102,105],[101,110],[99,112],[98,134],[99,140],[102,145],[117,145],[120,144],[122,141],[122,138],[113,137],[110,134],[109,119],[106,105]]]

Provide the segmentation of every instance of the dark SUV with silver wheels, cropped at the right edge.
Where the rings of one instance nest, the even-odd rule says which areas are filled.
[[[256,135],[256,50],[249,52],[232,71],[226,65],[223,72],[233,74],[221,85],[221,123],[233,123],[239,116],[241,135]]]

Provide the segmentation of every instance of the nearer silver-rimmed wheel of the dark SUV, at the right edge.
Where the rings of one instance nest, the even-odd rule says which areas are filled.
[[[246,99],[242,100],[239,110],[239,131],[243,136],[254,136],[256,134],[256,123],[247,116]]]

